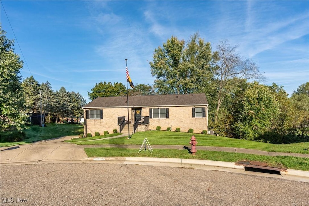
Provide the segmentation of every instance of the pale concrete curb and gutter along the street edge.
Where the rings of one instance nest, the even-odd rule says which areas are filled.
[[[33,160],[33,161],[16,161],[1,163],[1,165],[26,165],[26,164],[65,164],[65,163],[106,163],[106,164],[125,164],[125,165],[153,165],[182,167],[200,170],[216,170],[222,172],[232,172],[239,174],[258,175],[270,178],[281,178],[287,180],[309,182],[309,171],[290,170],[280,172],[279,174],[265,174],[260,172],[248,172],[243,165],[235,165],[234,162],[222,162],[211,160],[193,160],[177,158],[157,158],[157,157],[87,157],[83,159],[68,160]]]

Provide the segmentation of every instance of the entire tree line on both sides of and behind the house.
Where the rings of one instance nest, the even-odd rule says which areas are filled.
[[[49,82],[39,84],[33,76],[20,81],[23,62],[13,45],[1,30],[1,129],[21,129],[26,114],[39,111],[40,91],[43,111],[51,118],[83,116],[86,101],[78,92],[63,87],[53,92]],[[205,93],[209,128],[216,134],[276,144],[309,141],[309,82],[291,97],[282,86],[261,84],[265,77],[256,62],[227,40],[213,51],[198,33],[188,41],[171,36],[154,50],[150,71],[153,85],[136,84],[129,95]],[[99,82],[88,92],[91,100],[125,95],[119,82]]]

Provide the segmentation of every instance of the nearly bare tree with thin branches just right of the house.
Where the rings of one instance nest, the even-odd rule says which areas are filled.
[[[255,62],[243,58],[237,52],[237,46],[229,45],[227,40],[222,40],[217,45],[218,61],[216,61],[217,76],[217,109],[214,121],[217,122],[220,106],[228,93],[235,89],[237,79],[263,80]]]

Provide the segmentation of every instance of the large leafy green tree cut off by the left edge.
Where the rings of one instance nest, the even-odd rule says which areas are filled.
[[[1,32],[0,53],[0,121],[1,131],[15,127],[22,131],[25,126],[27,115],[25,114],[25,99],[21,86],[21,76],[18,74],[23,69],[23,62],[19,55],[14,53],[14,41],[9,40],[6,32]]]

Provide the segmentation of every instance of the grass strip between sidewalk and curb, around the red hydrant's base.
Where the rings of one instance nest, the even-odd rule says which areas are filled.
[[[197,151],[196,156],[188,153],[188,150],[176,149],[155,149],[152,154],[149,151],[125,148],[84,148],[88,157],[161,157],[161,158],[182,158],[201,159],[212,161],[237,162],[243,160],[261,161],[269,166],[287,168],[293,170],[309,171],[309,159],[290,156],[263,156],[231,152]]]

